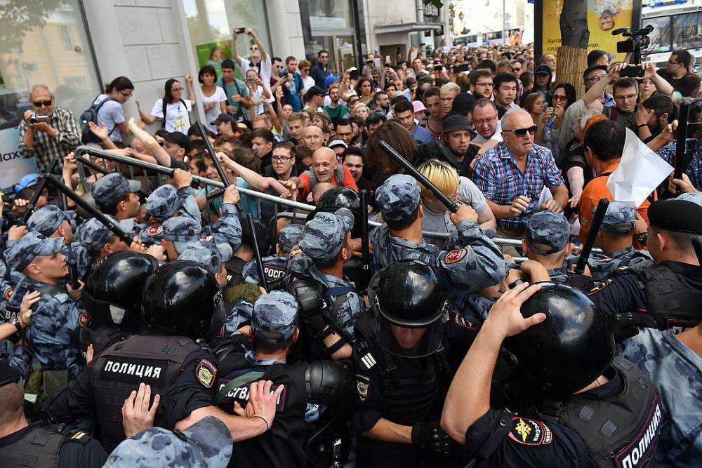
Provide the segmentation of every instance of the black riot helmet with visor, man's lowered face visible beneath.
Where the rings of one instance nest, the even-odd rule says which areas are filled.
[[[376,318],[373,333],[385,351],[418,358],[442,345],[446,301],[428,263],[406,259],[380,270],[369,296]]]

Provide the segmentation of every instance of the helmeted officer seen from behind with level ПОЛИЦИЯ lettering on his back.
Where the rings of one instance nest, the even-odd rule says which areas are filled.
[[[187,260],[159,267],[144,286],[142,317],[148,328],[96,356],[46,401],[44,417],[58,421],[96,413],[102,444],[112,450],[124,440],[122,403],[144,383],[161,396],[159,427],[183,428],[218,415],[235,440],[262,434],[272,424],[274,398],[282,387],[275,393],[254,389],[252,399],[263,396],[258,406],[263,413],[256,417],[232,417],[212,406],[216,359],[194,340],[205,333],[220,304],[220,290],[205,267]],[[270,382],[261,386],[270,388]]]

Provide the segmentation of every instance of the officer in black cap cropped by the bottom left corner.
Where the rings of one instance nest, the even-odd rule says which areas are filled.
[[[18,370],[0,361],[0,459],[4,467],[98,468],[107,453],[85,432],[65,424],[29,424]]]

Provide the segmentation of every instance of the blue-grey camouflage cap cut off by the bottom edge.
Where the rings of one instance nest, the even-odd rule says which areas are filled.
[[[232,435],[218,417],[206,416],[184,429],[150,427],[122,441],[104,467],[225,468],[232,457]]]

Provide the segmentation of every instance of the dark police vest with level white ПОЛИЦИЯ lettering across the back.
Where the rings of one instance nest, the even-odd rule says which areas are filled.
[[[187,356],[201,349],[184,336],[135,335],[117,342],[100,354],[91,372],[91,387],[98,410],[102,446],[109,453],[124,440],[122,405],[141,382],[151,385],[151,394],[168,394]],[[159,407],[154,426],[172,429],[177,421],[164,420]]]

